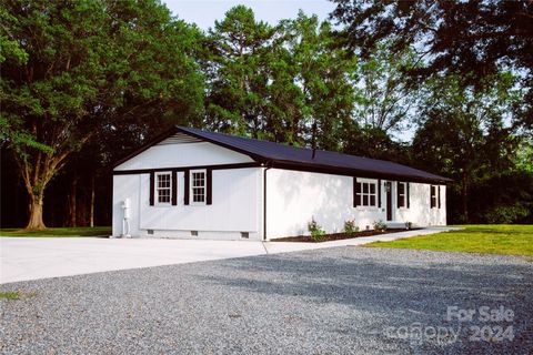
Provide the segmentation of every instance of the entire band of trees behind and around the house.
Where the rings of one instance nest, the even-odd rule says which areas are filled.
[[[533,222],[532,2],[333,2],[201,31],[157,0],[4,1],[2,224],[94,200],[109,223],[111,163],[173,123],[411,164],[454,179],[450,222]]]

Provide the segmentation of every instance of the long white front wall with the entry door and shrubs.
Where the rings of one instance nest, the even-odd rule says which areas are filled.
[[[342,232],[348,220],[355,220],[360,230],[372,229],[374,222],[386,220],[383,183],[384,180],[380,186],[381,209],[353,207],[352,176],[270,169],[266,178],[268,239],[309,234],[308,223],[312,217],[328,233]],[[445,203],[445,186],[441,186],[441,209],[430,209],[430,185],[410,183],[410,209],[398,210],[393,183],[393,222],[444,225]]]

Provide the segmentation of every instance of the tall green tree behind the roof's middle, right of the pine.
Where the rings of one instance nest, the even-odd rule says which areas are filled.
[[[342,124],[351,120],[355,100],[356,58],[334,45],[331,24],[316,16],[300,11],[296,19],[282,21],[279,30],[283,45],[273,70],[272,101],[278,116],[284,118],[288,141],[342,150]]]

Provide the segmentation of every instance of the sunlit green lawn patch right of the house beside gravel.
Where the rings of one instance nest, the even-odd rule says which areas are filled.
[[[421,235],[365,246],[533,256],[533,225],[470,224],[460,231]]]

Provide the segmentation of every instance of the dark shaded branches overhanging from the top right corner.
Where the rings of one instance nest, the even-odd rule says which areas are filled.
[[[450,72],[482,84],[502,70],[521,75],[526,95],[515,112],[533,126],[533,2],[532,1],[348,1],[336,3],[332,18],[345,24],[343,45],[368,57],[383,39],[392,49],[416,49],[426,65],[406,70],[425,79]]]

